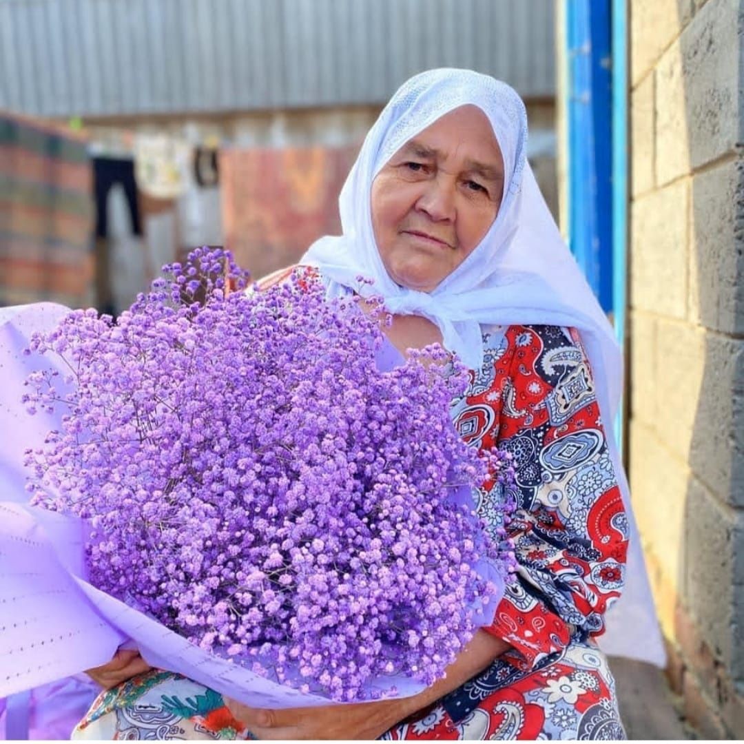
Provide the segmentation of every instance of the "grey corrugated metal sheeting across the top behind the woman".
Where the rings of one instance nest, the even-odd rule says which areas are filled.
[[[0,0],[0,108],[42,116],[384,103],[474,68],[553,96],[548,0]]]

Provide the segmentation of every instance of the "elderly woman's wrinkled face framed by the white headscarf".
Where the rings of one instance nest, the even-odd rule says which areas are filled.
[[[372,182],[374,237],[388,274],[431,292],[478,246],[504,193],[488,118],[461,106],[406,142]]]

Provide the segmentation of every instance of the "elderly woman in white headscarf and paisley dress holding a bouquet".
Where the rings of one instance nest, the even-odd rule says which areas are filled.
[[[517,580],[493,623],[422,693],[342,708],[254,710],[171,673],[141,673],[144,661],[122,652],[92,676],[108,687],[140,674],[102,693],[75,737],[624,738],[594,641],[626,583],[629,542],[638,549],[609,431],[620,355],[539,193],[526,139],[525,107],[504,83],[462,70],[417,75],[344,185],[343,234],[301,262],[329,297],[366,291],[356,279],[371,278],[401,353],[439,341],[472,368],[455,425],[472,446],[513,453],[520,493],[507,526]],[[487,490],[477,497],[500,526]],[[658,660],[637,552],[630,565],[641,598],[626,607],[632,629],[614,650]]]

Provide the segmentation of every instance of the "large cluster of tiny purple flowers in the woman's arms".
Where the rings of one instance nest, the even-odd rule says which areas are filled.
[[[440,347],[379,371],[379,312],[312,275],[245,292],[207,248],[164,272],[33,338],[69,369],[28,381],[29,411],[65,408],[27,453],[34,501],[90,519],[95,586],[204,649],[336,700],[431,684],[493,591],[477,560],[513,564],[452,498],[513,477],[452,426],[466,371]]]

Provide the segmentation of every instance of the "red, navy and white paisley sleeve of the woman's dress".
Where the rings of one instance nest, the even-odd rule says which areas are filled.
[[[628,522],[578,333],[492,327],[486,346],[455,423],[467,442],[514,457],[520,502],[507,532],[518,580],[490,632],[526,670],[577,632],[603,632],[623,586]],[[478,510],[493,525],[488,506],[484,488]]]

